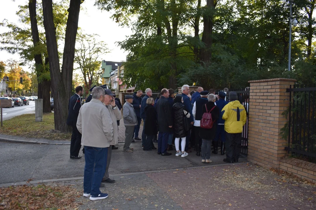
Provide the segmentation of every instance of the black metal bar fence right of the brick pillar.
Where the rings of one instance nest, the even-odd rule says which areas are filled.
[[[290,93],[288,146],[293,156],[316,162],[316,87],[294,85]]]

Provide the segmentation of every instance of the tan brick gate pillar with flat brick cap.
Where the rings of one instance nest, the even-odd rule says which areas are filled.
[[[279,168],[287,144],[280,134],[288,122],[282,115],[289,107],[286,88],[295,82],[284,78],[249,81],[248,161]]]

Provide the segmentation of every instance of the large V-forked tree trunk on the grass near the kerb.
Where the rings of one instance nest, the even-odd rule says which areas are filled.
[[[80,4],[82,2],[83,0],[70,0],[64,39],[63,61],[60,69],[52,0],[42,0],[44,28],[51,75],[51,88],[54,96],[55,130],[64,132],[68,131],[66,120],[68,116],[69,98],[72,91],[75,43]]]

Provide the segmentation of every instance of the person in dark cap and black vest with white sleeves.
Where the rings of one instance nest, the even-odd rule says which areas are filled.
[[[202,119],[202,107],[209,102],[207,99],[207,96],[209,95],[209,92],[207,90],[201,91],[201,98],[197,99],[194,102],[192,114],[194,117],[194,133],[195,133],[195,151],[197,156],[201,156],[201,142],[202,138],[200,138],[200,125],[201,125],[201,119]]]

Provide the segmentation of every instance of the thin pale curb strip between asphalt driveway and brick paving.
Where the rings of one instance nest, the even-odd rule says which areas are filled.
[[[163,170],[156,170],[156,171],[143,171],[143,172],[135,172],[135,173],[119,173],[119,174],[113,174],[111,176],[116,177],[116,176],[128,176],[128,175],[146,174],[146,173],[158,173],[158,172],[174,171],[176,169],[187,170],[187,169],[207,168],[207,167],[216,167],[216,166],[225,166],[225,165],[241,165],[244,163],[247,163],[247,162],[223,163],[223,164],[196,166],[196,167],[188,167],[188,168],[172,168],[172,169],[163,169]],[[61,178],[61,179],[44,179],[44,180],[35,180],[35,181],[29,181],[29,182],[5,183],[5,184],[0,184],[0,188],[1,187],[24,185],[24,184],[31,185],[31,184],[40,184],[40,183],[46,183],[46,182],[70,181],[70,180],[78,180],[78,179],[83,179],[83,177],[71,177],[71,178]]]

